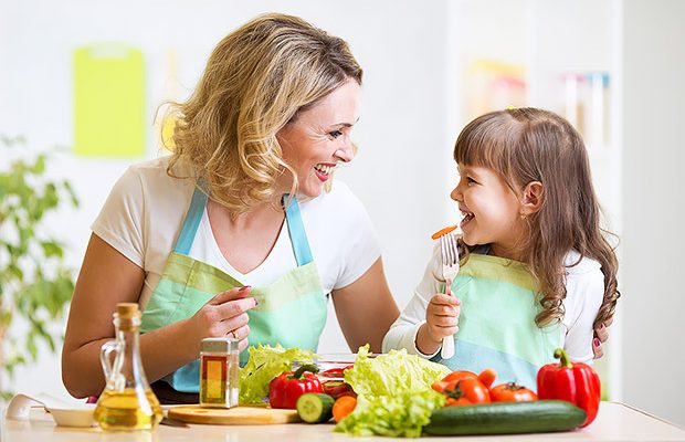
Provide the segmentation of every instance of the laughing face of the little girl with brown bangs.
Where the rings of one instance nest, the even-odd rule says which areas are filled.
[[[450,197],[464,215],[460,224],[464,242],[491,244],[494,255],[518,259],[525,224],[514,191],[491,168],[459,164],[457,170],[460,181]]]

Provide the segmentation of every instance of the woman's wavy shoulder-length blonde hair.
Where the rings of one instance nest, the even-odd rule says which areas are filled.
[[[170,103],[176,119],[167,173],[179,162],[204,179],[209,197],[235,217],[273,200],[289,170],[276,133],[362,71],[347,43],[292,15],[260,15],[214,48],[191,97]]]

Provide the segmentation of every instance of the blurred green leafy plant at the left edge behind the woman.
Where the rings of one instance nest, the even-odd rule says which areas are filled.
[[[54,352],[52,328],[74,292],[64,244],[45,233],[45,215],[78,201],[67,180],[46,177],[46,154],[29,154],[22,138],[0,135],[0,399],[18,367],[35,361],[41,343]],[[28,324],[14,336],[12,323]]]

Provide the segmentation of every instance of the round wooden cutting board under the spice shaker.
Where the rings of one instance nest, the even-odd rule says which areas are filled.
[[[200,406],[172,407],[169,419],[189,423],[223,425],[266,425],[273,423],[301,422],[296,410],[281,410],[267,407],[200,408]]]

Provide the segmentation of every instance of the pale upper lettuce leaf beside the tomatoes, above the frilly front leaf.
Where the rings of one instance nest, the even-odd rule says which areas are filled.
[[[447,367],[408,355],[405,349],[369,358],[368,347],[359,347],[355,368],[345,370],[345,381],[357,394],[392,396],[429,390],[449,373]]]

